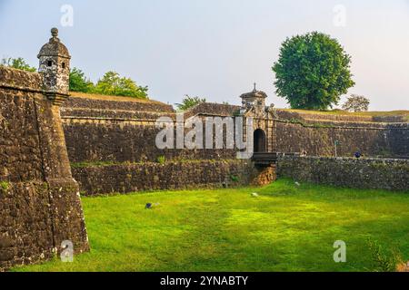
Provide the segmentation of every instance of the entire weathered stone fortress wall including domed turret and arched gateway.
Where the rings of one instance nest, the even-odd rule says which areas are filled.
[[[80,194],[267,184],[276,170],[317,181],[325,170],[338,170],[329,161],[317,167],[296,158],[258,167],[252,160],[237,160],[236,150],[159,150],[155,121],[161,116],[176,120],[173,108],[125,97],[72,93],[68,98],[71,57],[55,29],[52,36],[38,55],[39,73],[0,67],[0,270],[49,259],[63,250],[64,240],[74,243],[75,252],[86,251]],[[254,89],[242,96],[242,106],[203,103],[186,111],[185,120],[252,117],[254,131],[264,131],[270,152],[305,150],[329,157],[339,140],[339,156],[351,157],[356,150],[365,157],[409,155],[408,123],[398,117],[275,110],[264,106],[265,98]],[[253,131],[244,137],[253,138]],[[394,166],[403,175],[387,176],[407,189],[407,160],[391,162],[384,163],[386,169]],[[350,162],[336,164],[347,169]]]

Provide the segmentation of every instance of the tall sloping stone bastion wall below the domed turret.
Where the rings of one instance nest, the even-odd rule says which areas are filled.
[[[39,73],[0,67],[0,271],[88,248],[58,108]]]

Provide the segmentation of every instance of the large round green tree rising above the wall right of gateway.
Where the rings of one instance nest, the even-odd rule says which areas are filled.
[[[354,86],[350,64],[351,57],[327,34],[287,38],[273,66],[276,93],[293,109],[332,108]]]

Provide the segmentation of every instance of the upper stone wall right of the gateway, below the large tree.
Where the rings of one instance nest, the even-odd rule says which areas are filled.
[[[285,116],[289,118],[291,115],[285,112]],[[281,114],[280,120],[274,121],[274,151],[305,150],[309,156],[334,156],[334,142],[338,140],[338,156],[352,157],[357,150],[365,157],[409,156],[408,123],[357,121],[354,116],[350,117],[351,121],[346,121],[345,116],[340,121],[321,120],[318,117],[317,120],[284,119]]]

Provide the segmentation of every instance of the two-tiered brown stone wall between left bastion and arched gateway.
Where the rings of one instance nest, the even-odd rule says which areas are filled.
[[[83,195],[251,182],[251,162],[237,160],[235,150],[159,150],[155,138],[161,129],[155,121],[161,116],[175,120],[175,111],[163,103],[73,93],[61,115]],[[158,163],[160,158],[165,162]]]

